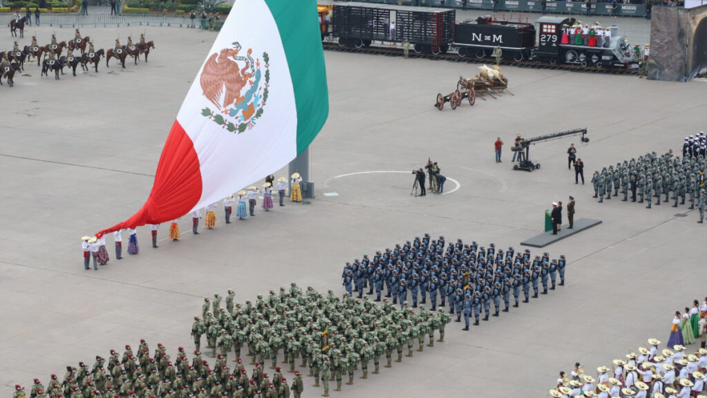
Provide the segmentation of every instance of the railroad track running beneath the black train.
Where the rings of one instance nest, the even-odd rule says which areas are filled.
[[[402,57],[402,48],[397,47],[341,47],[336,42],[322,42],[325,50],[329,51],[339,51],[339,52],[356,52],[359,54],[369,54],[369,55],[385,55],[388,57]],[[495,62],[493,58],[476,58],[476,57],[460,57],[456,53],[448,54],[418,54],[414,51],[410,51],[410,58],[424,58],[424,59],[434,59],[443,60],[450,62],[464,62],[467,64],[492,64]],[[602,73],[602,74],[623,74],[634,76],[638,74],[638,69],[618,69],[618,68],[597,68],[592,66],[583,67],[582,65],[575,64],[550,64],[549,62],[535,62],[535,61],[515,61],[510,59],[502,59],[501,65],[510,65],[513,67],[521,68],[532,68],[532,69],[556,69],[565,70],[572,72],[586,72],[586,73]]]

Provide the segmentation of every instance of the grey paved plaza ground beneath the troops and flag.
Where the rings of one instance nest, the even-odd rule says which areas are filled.
[[[54,31],[59,40],[73,35],[41,27],[40,43]],[[544,210],[568,195],[577,200],[576,217],[603,223],[545,249],[567,256],[566,286],[468,332],[452,322],[446,343],[356,378],[332,397],[544,397],[575,361],[591,370],[649,337],[667,341],[672,312],[707,295],[707,230],[696,224],[697,210],[647,210],[613,198],[599,204],[590,185],[594,169],[677,151],[683,137],[707,130],[705,84],[506,67],[515,96],[440,112],[436,94],[452,91],[477,65],[339,52],[325,54],[329,119],[311,147],[317,198],[228,226],[218,212],[216,228],[201,227],[198,236],[183,219],[179,242],[166,239],[163,224],[159,249],[140,227],[141,253],[125,261],[114,258],[108,237],[110,263],[84,271],[80,237],[144,203],[168,130],[215,38],[179,28],[82,29],[96,48],[143,32],[156,42],[148,64],[122,69],[112,60],[98,73],[59,81],[40,79],[34,64],[14,88],[0,87],[4,397],[16,383],[61,377],[65,365],[92,364],[96,354],[141,338],[164,343],[174,358],[177,346],[192,347],[192,317],[214,292],[233,288],[245,302],[296,281],[341,294],[345,261],[425,232],[522,250],[520,241],[541,231]],[[0,45],[11,41],[3,36]],[[577,137],[542,142],[530,152],[540,170],[511,170],[516,134],[578,127],[588,129],[588,145]],[[501,164],[493,161],[496,137],[506,142]],[[566,169],[571,142],[586,164],[585,186]],[[448,181],[448,194],[414,198],[411,174],[354,174],[409,173],[428,158],[458,189]],[[309,380],[303,397],[319,396]]]

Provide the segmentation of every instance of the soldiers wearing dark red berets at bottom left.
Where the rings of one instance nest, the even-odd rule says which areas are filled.
[[[304,390],[298,371],[288,384],[279,368],[269,380],[262,366],[255,365],[249,377],[242,361],[234,362],[231,371],[219,356],[211,368],[198,350],[189,362],[179,347],[173,363],[161,343],[150,356],[148,343],[141,340],[135,353],[126,345],[122,356],[115,350],[107,360],[95,356],[91,368],[83,362],[78,368],[66,366],[63,379],[51,375],[46,387],[35,378],[30,398],[299,398]],[[13,398],[25,397],[25,388],[15,385]]]

